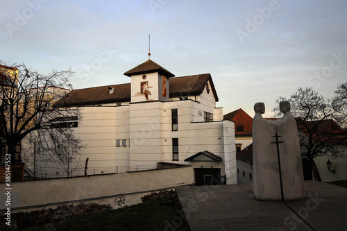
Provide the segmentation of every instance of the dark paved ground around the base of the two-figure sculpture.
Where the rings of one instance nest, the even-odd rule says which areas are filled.
[[[347,230],[347,188],[305,182],[306,199],[262,202],[253,185],[177,187],[192,231]]]

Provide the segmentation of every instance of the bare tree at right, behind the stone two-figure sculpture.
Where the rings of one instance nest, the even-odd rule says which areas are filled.
[[[280,101],[289,101],[291,104],[291,113],[298,126],[301,155],[310,163],[315,180],[321,180],[314,158],[324,155],[332,158],[345,157],[343,151],[347,144],[346,135],[338,123],[341,124],[346,115],[345,118],[338,116],[340,113],[333,103],[326,101],[310,87],[299,87],[289,99],[280,96],[273,108],[276,117],[281,114]]]

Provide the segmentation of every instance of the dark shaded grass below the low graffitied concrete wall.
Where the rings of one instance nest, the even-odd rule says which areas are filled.
[[[138,205],[92,212],[25,230],[188,230],[178,211],[180,207],[176,197],[157,198]]]

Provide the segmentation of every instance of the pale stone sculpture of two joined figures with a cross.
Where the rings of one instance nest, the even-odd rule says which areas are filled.
[[[301,200],[305,198],[298,129],[290,112],[289,102],[280,102],[280,111],[284,115],[281,119],[274,121],[262,117],[265,112],[264,103],[255,103],[254,110],[252,133],[255,199]],[[273,144],[276,141],[276,134],[283,142],[278,144],[279,150],[276,144]]]

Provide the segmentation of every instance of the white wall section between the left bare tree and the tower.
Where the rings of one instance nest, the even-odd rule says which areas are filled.
[[[128,147],[116,147],[116,139],[129,139],[128,106],[85,107],[75,135],[85,144],[82,160],[89,158],[88,173],[110,173],[115,166],[129,166]],[[93,172],[90,172],[90,171]]]

